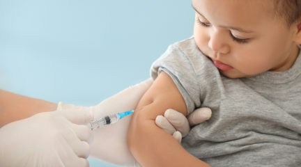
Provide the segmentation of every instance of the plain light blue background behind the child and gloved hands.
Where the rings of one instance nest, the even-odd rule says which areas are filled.
[[[193,24],[184,0],[1,0],[0,88],[96,105],[148,79],[153,61],[189,38]]]

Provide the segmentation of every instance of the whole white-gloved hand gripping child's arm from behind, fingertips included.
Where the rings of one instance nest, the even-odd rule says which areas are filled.
[[[146,93],[146,90],[153,84],[151,79],[148,79],[140,84],[126,88],[107,100],[100,102],[97,106],[83,107],[72,104],[59,103],[58,110],[76,109],[92,111],[94,118],[107,116],[111,113],[121,113],[135,109],[141,97]],[[186,136],[190,131],[187,118],[177,111],[167,110],[163,116],[158,116],[156,124],[173,135],[179,142],[183,136]],[[209,119],[211,116],[210,109],[197,109],[193,114],[188,116],[190,125],[196,125]],[[132,156],[128,144],[127,135],[130,126],[132,115],[122,118],[118,122],[109,126],[101,127],[92,131],[94,141],[91,144],[90,158],[99,159],[109,164],[118,166],[140,166]],[[170,123],[169,123],[170,122]],[[176,132],[176,130],[178,132]],[[182,133],[182,135],[181,135]]]

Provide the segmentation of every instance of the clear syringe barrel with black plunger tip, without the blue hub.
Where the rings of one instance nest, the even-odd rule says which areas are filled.
[[[104,116],[102,118],[92,120],[91,122],[86,124],[86,126],[88,128],[90,128],[91,131],[92,131],[93,129],[98,129],[98,128],[103,127],[105,125],[110,125],[112,123],[118,122],[118,120],[119,120],[118,114],[113,113],[109,116]]]

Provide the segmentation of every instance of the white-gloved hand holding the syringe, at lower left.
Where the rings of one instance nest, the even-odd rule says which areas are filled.
[[[0,166],[87,167],[93,120],[85,111],[52,111],[11,122],[0,129]]]

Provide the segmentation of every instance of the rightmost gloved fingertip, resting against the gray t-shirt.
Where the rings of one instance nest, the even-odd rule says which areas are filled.
[[[211,109],[203,107],[200,109],[196,109],[192,113],[190,113],[190,115],[187,116],[187,120],[190,126],[193,126],[193,125],[200,124],[205,120],[209,120],[211,118],[211,115],[212,115]]]

